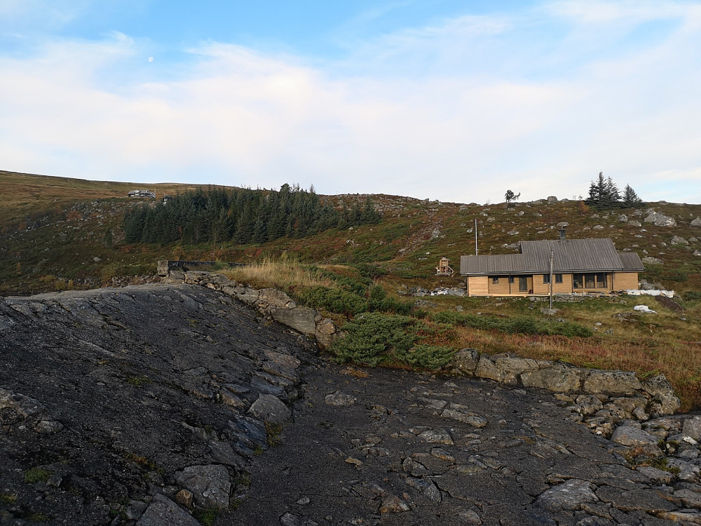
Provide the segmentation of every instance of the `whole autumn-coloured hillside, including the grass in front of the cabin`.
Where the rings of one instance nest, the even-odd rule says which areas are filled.
[[[577,365],[633,370],[640,375],[662,372],[681,396],[685,409],[701,407],[701,257],[694,255],[701,250],[701,227],[690,224],[701,215],[701,205],[647,203],[639,209],[597,213],[579,201],[542,200],[506,208],[504,203],[439,203],[375,195],[371,198],[382,214],[379,224],[342,231],[328,229],[314,236],[285,237],[263,244],[129,244],[124,241],[122,217],[144,201],[126,197],[128,191],[155,189],[161,197],[162,191],[177,194],[189,187],[12,173],[1,177],[3,188],[12,197],[0,201],[4,217],[0,296],[147,283],[156,279],[158,259],[249,264],[280,260],[285,263],[276,275],[261,277],[255,274],[257,267],[245,267],[247,273],[232,277],[259,287],[283,288],[303,304],[311,301],[310,306],[327,309],[327,316],[339,325],[346,323],[350,313],[362,309],[320,302],[321,296],[314,295],[313,288],[322,287],[324,295],[325,288],[350,286],[363,296],[369,291],[368,285],[374,283],[384,291],[382,295],[387,299],[381,301],[388,302],[390,312],[406,313],[409,306],[412,316],[428,316],[436,322],[422,343],[566,360]],[[351,207],[365,203],[366,197],[352,194],[325,199],[339,207]],[[649,209],[672,218],[676,226],[645,222]],[[555,238],[559,225],[566,224],[570,238],[608,236],[618,250],[635,250],[641,257],[658,258],[662,263],[647,264],[640,277],[662,288],[690,293],[671,304],[660,304],[649,297],[557,302],[559,310],[554,317],[526,299],[407,299],[411,288],[463,284],[459,276],[435,276],[434,268],[439,257],[445,256],[458,270],[459,257],[474,252],[475,219],[480,254],[513,253],[517,241]],[[674,236],[688,244],[672,244]],[[329,294],[340,294],[341,299],[351,299],[356,305],[367,304],[364,297]],[[632,308],[637,304],[650,304],[658,313],[634,313]],[[461,311],[457,317],[456,311]],[[494,321],[492,325],[503,326],[504,330],[480,329],[482,325],[475,323],[469,327],[460,318],[462,314],[487,316]],[[528,330],[509,328],[524,317]],[[500,325],[499,320],[505,323]],[[593,335],[566,336],[557,328],[553,332],[553,323],[563,322],[582,326]]]

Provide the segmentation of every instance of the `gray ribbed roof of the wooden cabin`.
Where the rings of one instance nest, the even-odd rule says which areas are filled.
[[[460,273],[470,275],[547,274],[644,270],[635,252],[616,252],[610,238],[522,241],[520,254],[462,256]]]

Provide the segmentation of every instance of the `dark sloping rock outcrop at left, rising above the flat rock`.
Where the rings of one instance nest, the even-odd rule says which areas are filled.
[[[305,347],[200,286],[0,298],[0,523],[195,525],[228,510],[266,422],[289,425]]]

